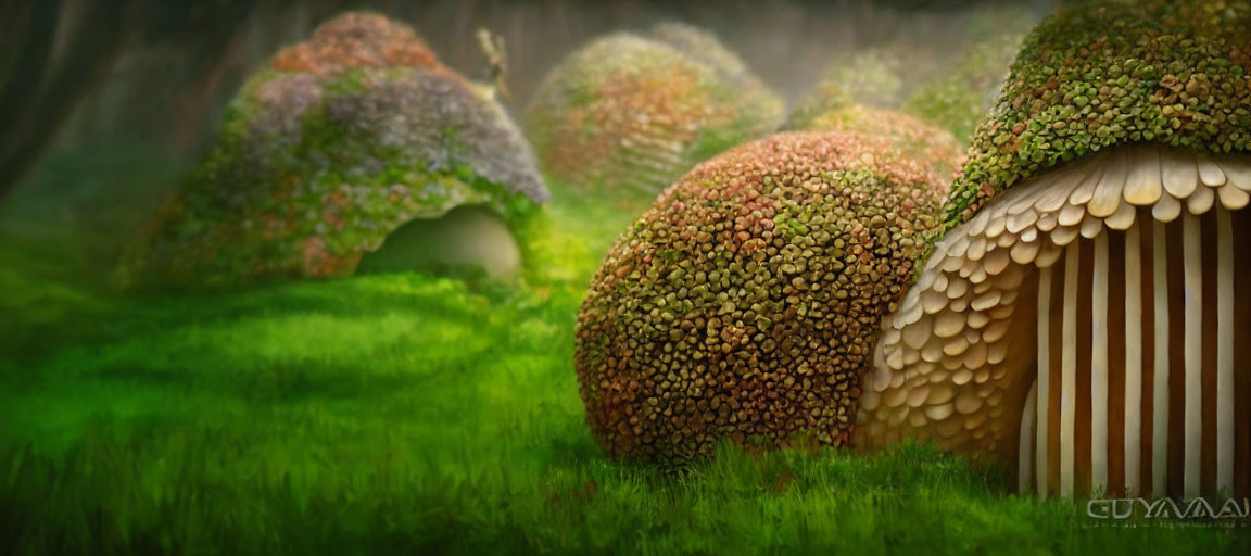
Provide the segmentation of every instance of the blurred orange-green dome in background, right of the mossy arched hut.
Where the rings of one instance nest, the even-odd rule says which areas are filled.
[[[699,160],[774,130],[782,115],[782,100],[712,35],[669,24],[570,54],[540,85],[525,125],[560,180],[654,194]]]

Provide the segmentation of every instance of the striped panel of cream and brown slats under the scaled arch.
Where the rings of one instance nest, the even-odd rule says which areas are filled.
[[[1141,222],[1080,239],[1040,270],[1018,487],[1245,496],[1251,356],[1237,346],[1251,344],[1251,299],[1236,277],[1251,272],[1251,253],[1235,239],[1251,219],[1215,209]]]

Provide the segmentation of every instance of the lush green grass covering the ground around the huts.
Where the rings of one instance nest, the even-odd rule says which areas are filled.
[[[523,284],[390,274],[118,297],[98,286],[108,257],[79,255],[115,249],[109,225],[40,234],[55,210],[10,208],[0,553],[1246,553],[1246,530],[1090,527],[1073,503],[1005,495],[995,470],[924,446],[724,446],[686,470],[604,458],[573,326],[638,210],[562,193]]]

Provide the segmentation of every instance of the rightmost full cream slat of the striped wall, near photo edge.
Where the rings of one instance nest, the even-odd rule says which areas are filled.
[[[1233,487],[1233,232],[1216,208],[1216,488]]]

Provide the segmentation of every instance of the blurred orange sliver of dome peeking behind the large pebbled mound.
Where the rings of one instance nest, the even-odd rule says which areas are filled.
[[[797,130],[858,131],[886,139],[901,154],[927,163],[938,177],[937,187],[947,193],[951,175],[962,163],[963,149],[946,130],[911,115],[884,108],[851,104],[813,114]]]

